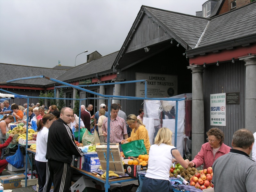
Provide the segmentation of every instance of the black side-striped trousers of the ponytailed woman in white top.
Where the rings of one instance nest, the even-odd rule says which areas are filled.
[[[35,160],[35,167],[38,176],[38,192],[49,192],[52,186],[52,180],[47,162]]]

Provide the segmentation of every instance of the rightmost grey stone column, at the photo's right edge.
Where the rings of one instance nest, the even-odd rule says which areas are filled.
[[[240,57],[245,62],[245,129],[256,132],[256,55]],[[243,128],[243,127],[242,127]]]

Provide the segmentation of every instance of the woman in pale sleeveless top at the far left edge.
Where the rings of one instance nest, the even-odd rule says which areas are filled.
[[[5,134],[9,131],[8,124],[14,121],[14,117],[12,115],[4,115],[4,117],[0,120],[0,142],[4,144]],[[1,159],[4,157],[4,149],[2,149]]]

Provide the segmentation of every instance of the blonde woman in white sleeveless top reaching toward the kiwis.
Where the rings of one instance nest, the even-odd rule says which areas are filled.
[[[176,160],[173,159],[174,157]],[[172,191],[169,180],[172,161],[178,161],[184,168],[189,165],[189,160],[184,160],[178,149],[172,146],[172,131],[162,127],[156,134],[155,144],[149,149],[148,170],[141,192],[159,191],[159,186],[161,192]]]

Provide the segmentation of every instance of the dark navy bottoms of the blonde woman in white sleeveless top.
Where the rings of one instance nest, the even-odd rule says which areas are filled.
[[[144,177],[141,192],[172,192],[172,184],[169,180],[151,179]]]

